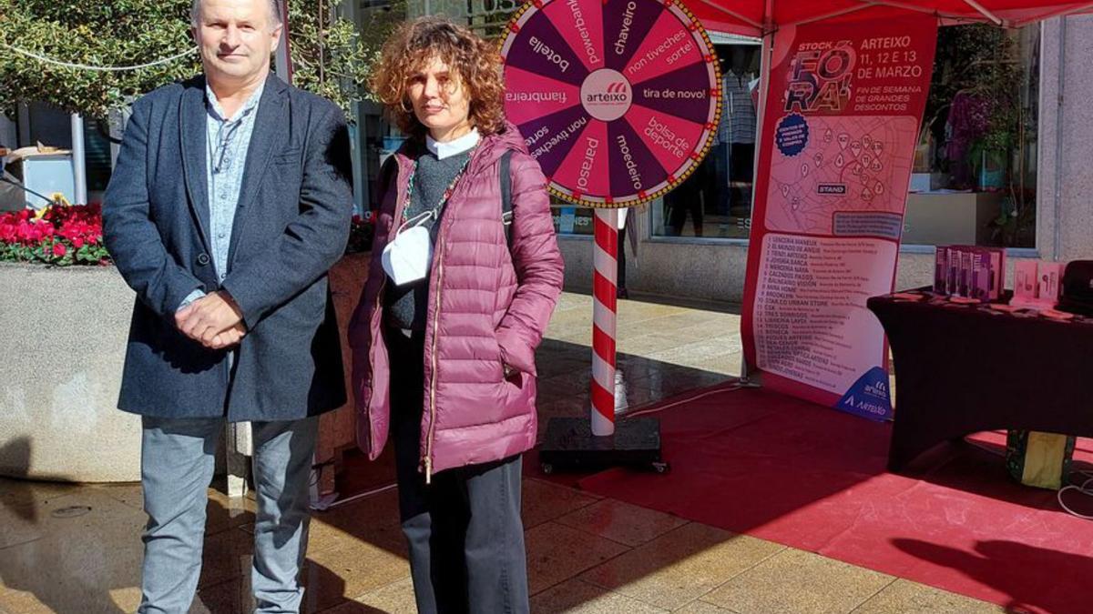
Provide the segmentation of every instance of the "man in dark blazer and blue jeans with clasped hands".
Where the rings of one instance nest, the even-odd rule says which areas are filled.
[[[251,421],[259,612],[296,612],[317,415],[345,402],[327,271],[352,215],[332,103],[270,74],[278,0],[195,0],[203,74],[133,105],[104,237],[137,292],[118,406],[141,414],[141,612],[186,612],[224,422]]]

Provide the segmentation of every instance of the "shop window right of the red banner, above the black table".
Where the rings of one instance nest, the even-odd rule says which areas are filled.
[[[941,28],[903,243],[1035,247],[1038,113],[1038,26]]]

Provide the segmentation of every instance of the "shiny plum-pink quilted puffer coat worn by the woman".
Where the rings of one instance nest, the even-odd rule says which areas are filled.
[[[357,445],[383,451],[390,423],[390,369],[379,255],[406,205],[415,149],[399,153],[398,179],[384,194],[368,280],[350,322]],[[500,161],[513,150],[512,252],[501,221]],[[483,139],[440,219],[430,276],[425,332],[422,470],[432,473],[500,460],[534,446],[534,351],[562,291],[546,180],[515,126]],[[503,365],[518,373],[504,377]]]

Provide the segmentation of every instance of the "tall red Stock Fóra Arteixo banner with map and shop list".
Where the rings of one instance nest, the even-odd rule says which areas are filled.
[[[936,40],[930,15],[774,35],[742,318],[767,387],[892,416],[866,300],[893,288]]]

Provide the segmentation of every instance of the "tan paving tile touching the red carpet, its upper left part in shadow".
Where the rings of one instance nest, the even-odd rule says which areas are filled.
[[[689,523],[600,565],[581,580],[673,610],[785,550],[785,546]]]

